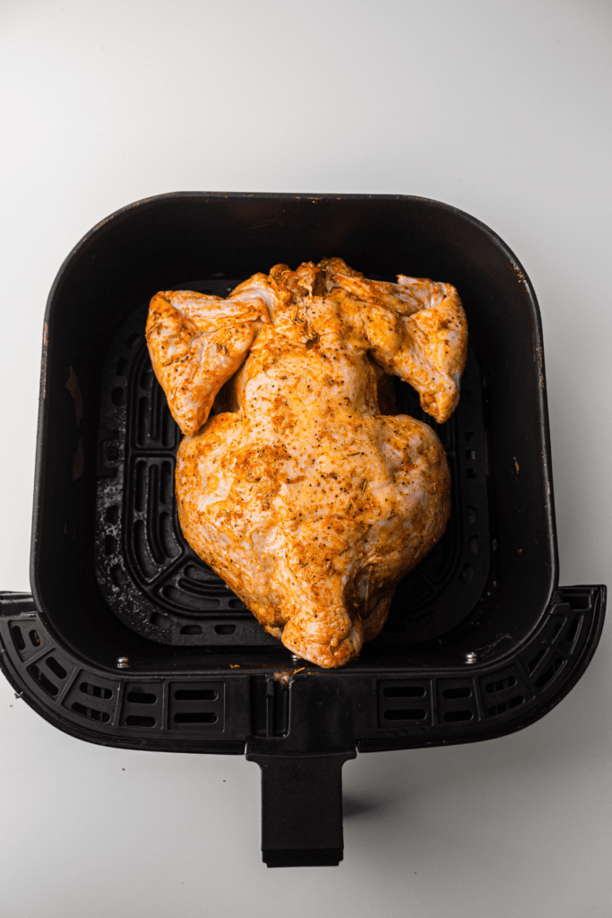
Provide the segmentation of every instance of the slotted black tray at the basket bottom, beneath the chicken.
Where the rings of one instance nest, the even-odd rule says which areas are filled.
[[[239,281],[176,285],[226,297]],[[174,500],[181,439],[150,364],[148,303],[117,331],[106,356],[98,445],[95,565],[109,607],[133,631],[161,644],[280,644],[184,539]],[[436,431],[451,467],[451,521],[440,542],[395,591],[377,643],[427,641],[462,621],[489,570],[481,378],[470,351],[459,407],[436,424],[400,380],[397,413]]]

